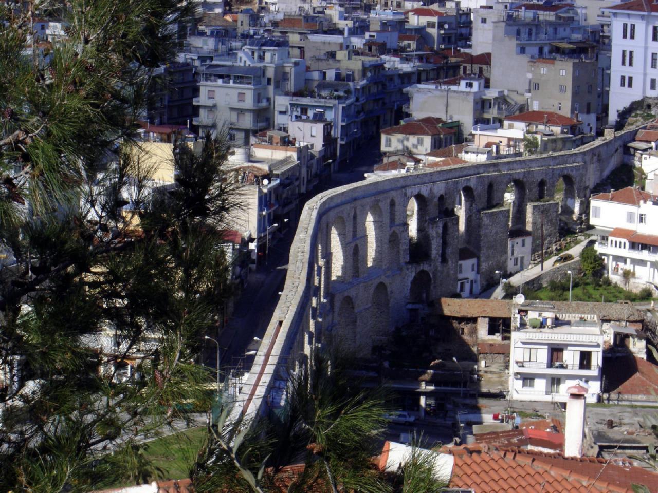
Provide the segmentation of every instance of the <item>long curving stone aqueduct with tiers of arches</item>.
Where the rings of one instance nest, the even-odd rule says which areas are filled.
[[[509,229],[540,249],[559,214],[586,212],[590,189],[622,162],[635,131],[576,151],[373,177],[307,202],[290,251],[286,285],[261,343],[240,411],[263,411],[277,369],[338,340],[363,356],[409,319],[409,307],[457,291],[458,252],[474,250],[482,285],[507,266]],[[556,184],[564,193],[552,200]],[[513,187],[513,203],[503,196]],[[543,224],[543,226],[542,226]],[[236,410],[237,411],[237,410]]]

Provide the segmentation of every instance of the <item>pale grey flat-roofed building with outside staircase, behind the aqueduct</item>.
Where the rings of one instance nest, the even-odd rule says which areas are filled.
[[[501,89],[485,89],[484,77],[461,77],[455,83],[415,84],[409,93],[409,112],[415,118],[438,116],[447,122],[459,121],[459,137],[471,133],[477,124],[496,124],[519,112],[522,106]]]

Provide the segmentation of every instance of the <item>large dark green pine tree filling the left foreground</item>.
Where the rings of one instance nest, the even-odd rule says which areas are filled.
[[[127,152],[194,6],[51,1],[68,39],[33,53],[49,12],[14,5],[0,6],[0,253],[15,259],[0,268],[0,492],[152,479],[137,437],[180,402],[209,407],[195,361],[230,294],[226,142],[175,145],[166,189]]]

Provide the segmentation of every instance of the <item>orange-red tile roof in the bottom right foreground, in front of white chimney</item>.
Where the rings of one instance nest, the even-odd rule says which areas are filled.
[[[634,482],[658,488],[658,474],[605,459],[565,458],[561,454],[487,444],[443,448],[455,456],[450,488],[488,493],[632,493]]]

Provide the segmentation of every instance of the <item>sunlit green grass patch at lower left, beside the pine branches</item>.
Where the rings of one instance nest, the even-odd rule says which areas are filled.
[[[162,471],[162,479],[190,477],[190,467],[197,459],[208,436],[206,427],[190,428],[148,442],[144,455]]]

